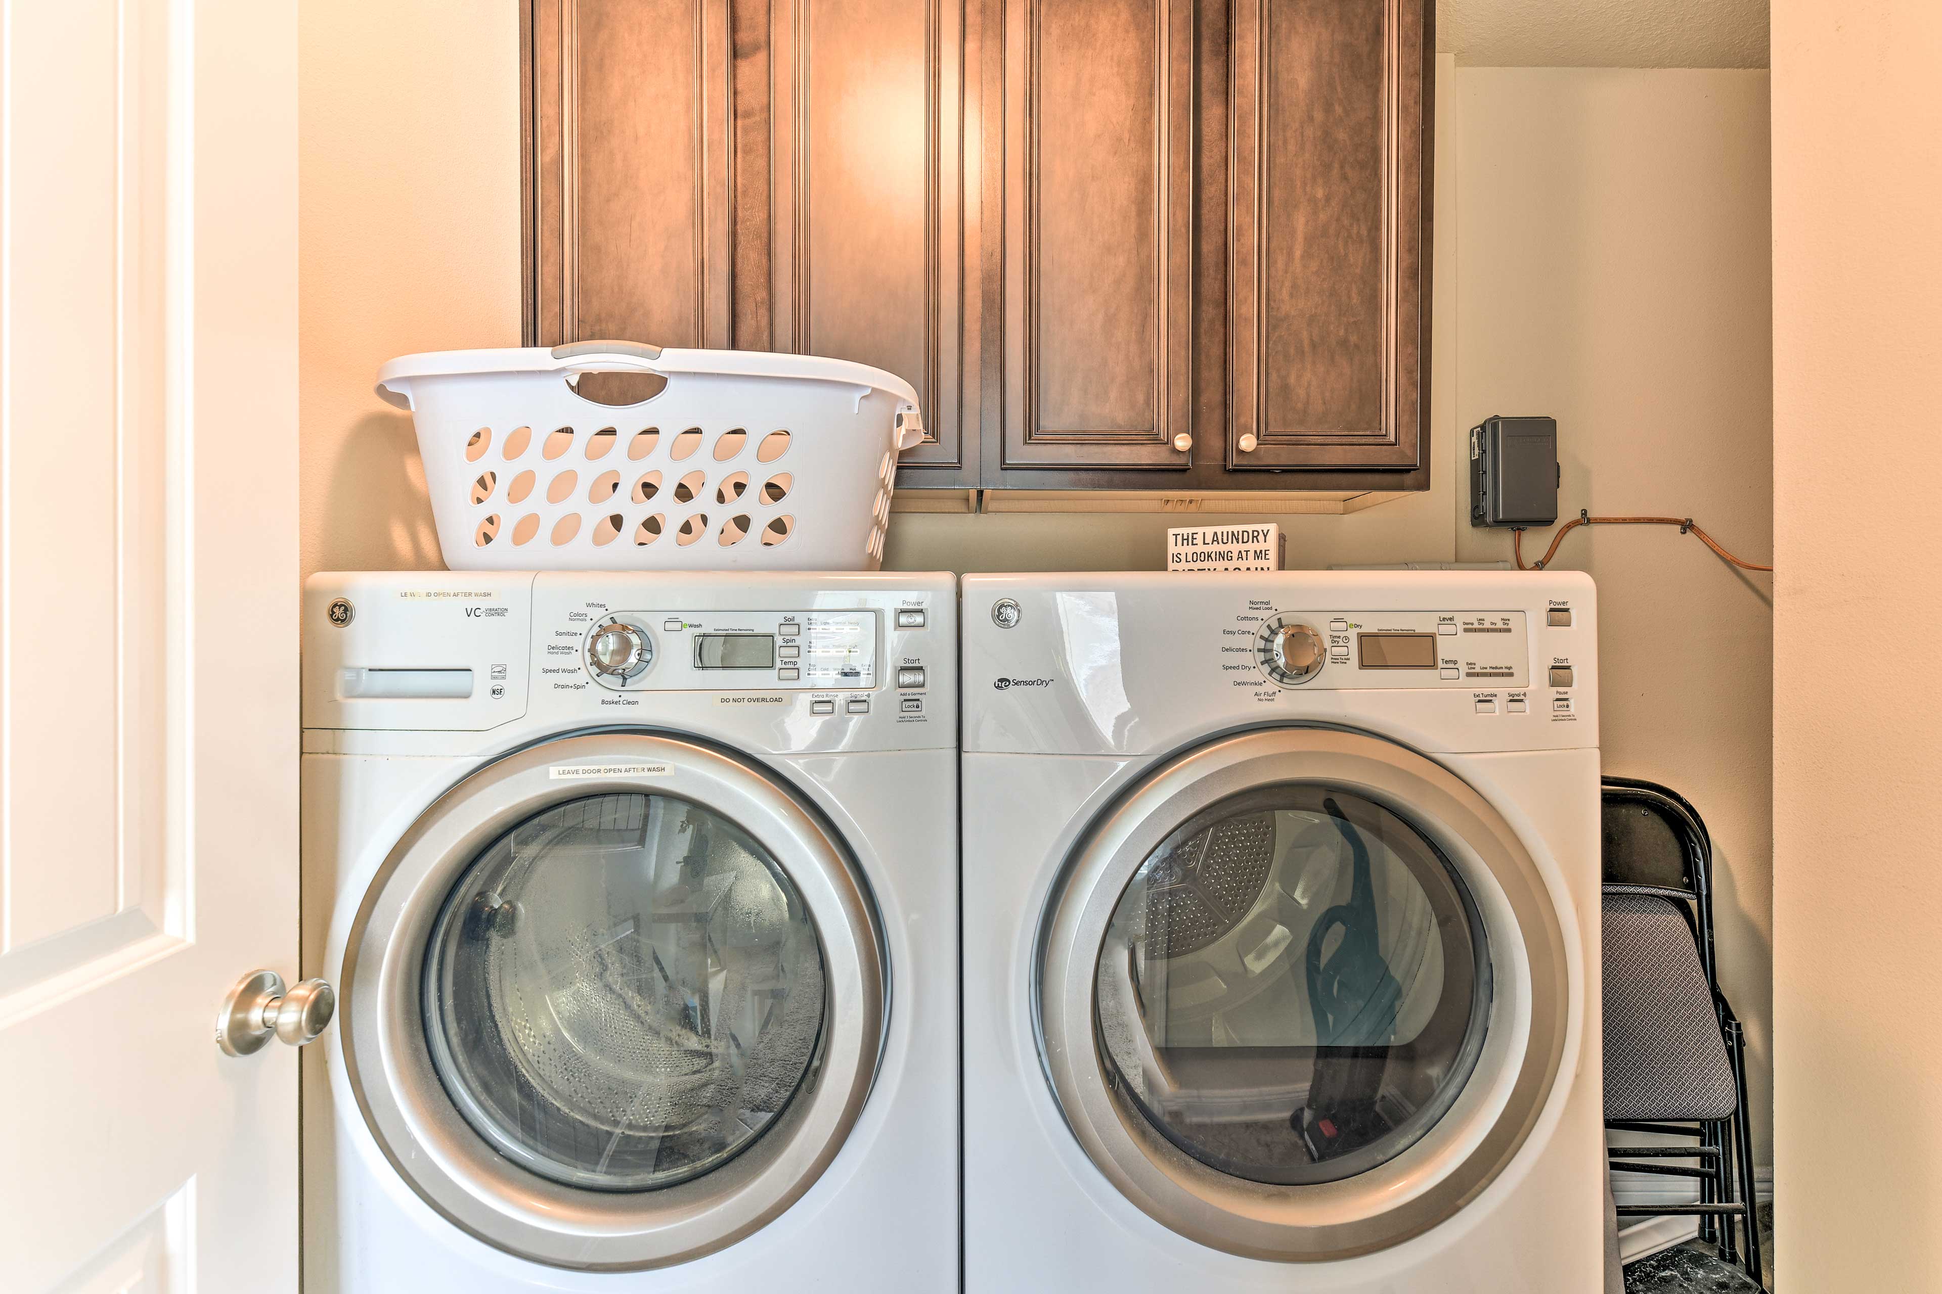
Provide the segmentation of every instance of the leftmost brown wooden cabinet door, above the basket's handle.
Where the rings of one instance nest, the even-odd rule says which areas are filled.
[[[534,340],[732,345],[728,0],[534,0]]]

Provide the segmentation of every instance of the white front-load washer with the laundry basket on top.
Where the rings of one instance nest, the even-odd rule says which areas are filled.
[[[955,1288],[954,580],[303,615],[305,1288]]]

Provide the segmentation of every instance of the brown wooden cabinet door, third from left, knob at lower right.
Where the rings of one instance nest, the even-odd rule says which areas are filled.
[[[1006,0],[1004,466],[1185,468],[1192,6]]]

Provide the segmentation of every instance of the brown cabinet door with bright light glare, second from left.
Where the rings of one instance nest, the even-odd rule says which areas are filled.
[[[773,8],[775,349],[911,382],[926,442],[907,468],[959,468],[977,417],[965,37],[963,6],[944,0]]]

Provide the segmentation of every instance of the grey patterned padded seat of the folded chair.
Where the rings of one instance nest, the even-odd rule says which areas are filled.
[[[1736,1106],[1705,966],[1670,898],[1604,894],[1604,1117],[1724,1119]]]

